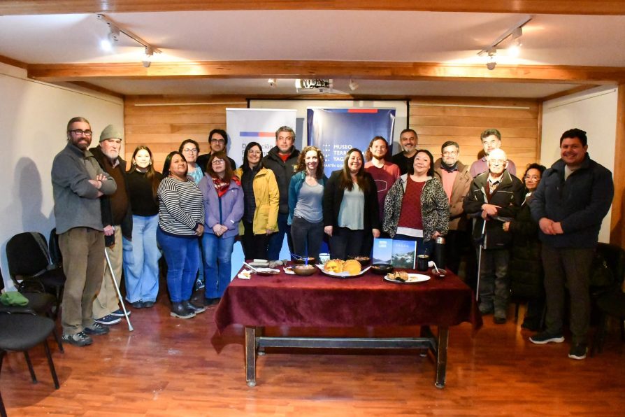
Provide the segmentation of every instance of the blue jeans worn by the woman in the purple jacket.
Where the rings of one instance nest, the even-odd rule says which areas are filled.
[[[206,298],[221,298],[230,283],[234,238],[235,236],[217,237],[206,232],[202,236]]]

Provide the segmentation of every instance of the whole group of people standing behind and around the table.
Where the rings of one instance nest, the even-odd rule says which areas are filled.
[[[484,157],[470,167],[459,160],[458,143],[443,143],[435,160],[417,148],[417,133],[404,129],[398,154],[388,157],[389,143],[375,136],[364,153],[347,151],[343,168],[329,178],[321,150],[297,150],[287,126],[275,132],[267,155],[259,143],[247,143],[238,168],[226,153],[227,132],[213,129],[209,153],[199,155],[199,143],[187,139],[166,156],[162,174],[146,146],[134,150],[126,171],[119,155],[123,134],[114,126],[90,149],[84,118],[70,120],[67,135],[52,184],[68,278],[62,324],[71,344],[91,344],[91,335],[106,334],[123,316],[105,275],[105,247],[106,274],[120,277],[123,269],[127,301],[137,309],[156,301],[160,247],[171,316],[192,318],[227,288],[236,236],[246,259],[266,260],[279,259],[285,235],[293,256],[317,259],[324,234],[331,257],[340,259],[370,255],[380,236],[417,241],[419,254],[431,253],[433,241],[445,236],[447,268],[458,273],[472,233],[480,311],[505,323],[510,280],[526,285],[535,291],[524,327],[539,330],[543,293],[547,305],[546,330],[531,340],[562,341],[566,284],[582,305],[571,318],[572,357],[585,349],[582,293],[613,189],[610,171],[589,159],[579,129],[563,134],[561,160],[547,171],[531,164],[523,181],[496,129],[482,132]],[[198,275],[202,305],[191,302]]]

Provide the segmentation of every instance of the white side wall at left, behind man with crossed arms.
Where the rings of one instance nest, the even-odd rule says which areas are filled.
[[[91,122],[92,146],[106,125],[124,127],[122,99],[29,80],[25,72],[0,63],[0,167],[6,169],[0,176],[0,267],[8,288],[8,239],[20,232],[47,239],[55,227],[50,169],[66,144],[68,120]]]

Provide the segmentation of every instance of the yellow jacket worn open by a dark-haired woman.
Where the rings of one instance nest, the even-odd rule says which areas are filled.
[[[242,178],[243,169],[234,171],[238,178]],[[280,205],[280,190],[275,175],[271,169],[261,168],[254,176],[254,234],[265,234],[267,229],[278,230],[278,208]],[[243,234],[243,222],[239,224],[239,234]]]

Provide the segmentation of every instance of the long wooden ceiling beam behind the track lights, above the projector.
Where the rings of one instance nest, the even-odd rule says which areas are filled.
[[[28,76],[49,82],[92,78],[171,80],[180,78],[353,78],[612,84],[625,82],[625,68],[612,66],[440,64],[370,61],[210,61],[110,64],[29,64]]]

